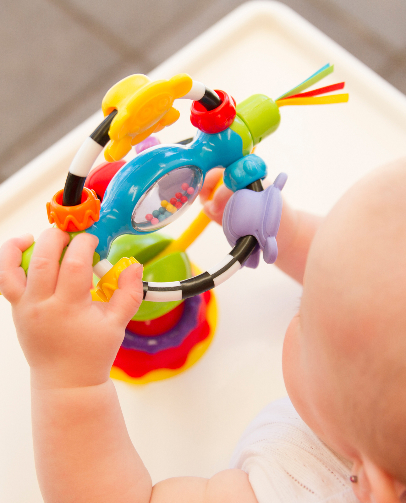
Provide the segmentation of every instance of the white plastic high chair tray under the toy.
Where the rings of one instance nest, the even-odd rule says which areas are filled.
[[[281,171],[289,175],[283,194],[293,206],[326,214],[356,180],[406,154],[406,97],[400,92],[277,2],[239,7],[150,76],[187,72],[238,103],[254,93],[275,99],[327,62],[335,63],[335,72],[321,85],[345,80],[349,102],[282,108],[279,129],[256,150],[271,180]],[[157,134],[162,143],[193,135],[189,107],[188,101],[177,103],[181,117]],[[0,243],[24,232],[38,236],[49,225],[45,203],[64,186],[73,155],[101,117],[94,114],[0,186]],[[177,237],[199,209],[194,203],[164,232]],[[188,254],[206,270],[229,249],[221,227],[211,223]],[[154,482],[177,475],[210,477],[227,468],[250,420],[286,393],[282,341],[299,305],[300,286],[261,262],[214,293],[217,331],[197,364],[145,386],[115,382],[132,441]],[[32,452],[29,368],[3,297],[0,319],[0,501],[36,503],[42,498]]]

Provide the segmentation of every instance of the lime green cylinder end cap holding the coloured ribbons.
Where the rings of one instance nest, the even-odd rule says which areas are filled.
[[[252,95],[237,105],[237,116],[247,125],[254,145],[273,133],[280,122],[279,108],[265,95]]]

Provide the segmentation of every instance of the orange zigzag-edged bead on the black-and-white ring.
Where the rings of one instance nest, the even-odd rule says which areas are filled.
[[[82,192],[82,202],[77,206],[63,206],[63,189],[47,203],[49,223],[65,232],[85,230],[100,218],[100,200],[94,190],[86,187]]]

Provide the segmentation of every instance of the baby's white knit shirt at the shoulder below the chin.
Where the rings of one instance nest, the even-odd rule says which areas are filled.
[[[231,460],[248,473],[258,503],[357,503],[351,463],[301,420],[289,398],[267,405],[248,426]]]

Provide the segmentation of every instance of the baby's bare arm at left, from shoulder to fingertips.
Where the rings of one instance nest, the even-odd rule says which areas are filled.
[[[142,269],[130,266],[110,302],[94,302],[89,288],[96,239],[77,235],[59,267],[67,242],[59,229],[45,231],[28,279],[19,266],[32,236],[0,249],[0,291],[12,303],[31,368],[34,451],[44,501],[256,503],[241,470],[210,480],[169,479],[152,487],[109,378],[125,326],[142,300]]]

